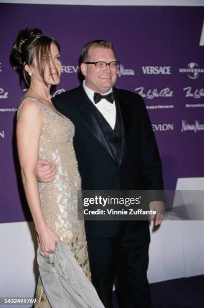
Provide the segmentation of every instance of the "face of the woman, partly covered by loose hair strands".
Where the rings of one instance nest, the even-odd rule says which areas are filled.
[[[45,59],[45,66],[44,66],[44,79],[48,86],[57,85],[60,81],[60,74],[61,74],[61,61],[59,50],[54,43],[50,45],[50,54],[49,54],[49,63],[51,67],[51,73],[49,71],[49,65],[47,60]],[[34,57],[33,64],[30,68],[32,71],[31,81],[33,83],[42,83],[42,79],[40,76],[40,72],[37,67],[37,60],[36,56]]]

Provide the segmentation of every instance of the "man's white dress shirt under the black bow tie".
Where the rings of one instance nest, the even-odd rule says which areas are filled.
[[[100,113],[104,116],[108,124],[111,126],[112,129],[115,127],[115,121],[116,121],[116,107],[115,107],[115,101],[113,104],[109,103],[106,99],[101,99],[99,103],[94,103],[94,93],[95,91],[89,89],[85,85],[85,80],[83,82],[83,88],[88,95],[89,99],[92,101],[94,106],[100,111]],[[112,92],[112,88],[105,94]]]

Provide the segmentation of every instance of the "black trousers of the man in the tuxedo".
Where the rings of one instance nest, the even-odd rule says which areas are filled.
[[[135,221],[137,223],[137,221]],[[120,221],[112,238],[88,237],[92,282],[106,308],[112,308],[112,287],[116,278],[121,308],[149,308],[147,279],[150,230],[148,221],[138,221],[138,230],[130,233]]]

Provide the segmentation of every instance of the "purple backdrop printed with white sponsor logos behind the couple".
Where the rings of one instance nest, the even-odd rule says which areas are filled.
[[[94,39],[112,41],[121,66],[116,87],[144,96],[166,189],[203,177],[203,7],[94,7],[0,4],[0,222],[30,219],[16,159],[16,108],[24,87],[10,64],[19,30],[37,27],[61,45],[57,93],[79,85],[78,59]],[[55,95],[57,95],[55,93]]]

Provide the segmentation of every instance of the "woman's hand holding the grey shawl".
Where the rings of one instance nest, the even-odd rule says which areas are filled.
[[[55,251],[55,245],[59,242],[58,236],[52,232],[47,226],[44,226],[42,229],[38,230],[38,236],[40,240],[40,249],[42,252],[48,256]]]

